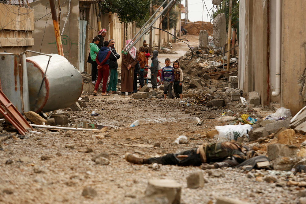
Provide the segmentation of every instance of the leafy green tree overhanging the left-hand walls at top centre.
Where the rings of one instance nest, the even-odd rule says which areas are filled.
[[[144,18],[149,16],[151,0],[104,0],[100,2],[100,10],[104,13],[118,13],[121,23],[143,25]]]

